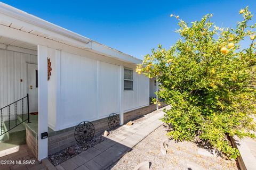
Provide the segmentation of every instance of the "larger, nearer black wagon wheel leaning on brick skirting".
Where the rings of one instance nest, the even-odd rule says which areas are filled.
[[[84,145],[93,139],[94,133],[94,125],[91,122],[84,121],[76,126],[75,139],[78,143]]]

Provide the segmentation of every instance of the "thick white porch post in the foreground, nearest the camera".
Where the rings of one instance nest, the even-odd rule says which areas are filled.
[[[43,132],[48,132],[48,82],[47,82],[47,47],[37,46],[38,63],[38,160],[48,156],[48,139],[41,139]]]

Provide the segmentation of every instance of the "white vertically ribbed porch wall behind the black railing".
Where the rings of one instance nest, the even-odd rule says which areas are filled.
[[[27,63],[37,64],[37,56],[0,49],[0,108],[27,95]],[[17,113],[21,112],[21,103],[18,103]],[[13,119],[14,106],[10,107],[10,113]],[[27,113],[27,101],[24,101],[24,113]],[[7,114],[7,110],[4,109],[4,121],[8,118]]]

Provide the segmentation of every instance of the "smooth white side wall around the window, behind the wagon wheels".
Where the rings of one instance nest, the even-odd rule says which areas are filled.
[[[111,113],[119,114],[119,82],[118,64],[61,51],[60,105],[55,122],[58,125],[53,125],[55,130],[108,117]],[[149,79],[134,72],[134,90],[124,91],[124,109],[147,105]]]

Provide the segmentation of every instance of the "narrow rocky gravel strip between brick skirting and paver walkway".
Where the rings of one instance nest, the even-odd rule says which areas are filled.
[[[137,124],[137,123],[145,120],[147,118],[147,116],[149,116],[150,114],[152,114],[152,113],[149,113],[146,116],[142,116],[142,117],[132,120],[133,124]],[[115,130],[109,131],[109,135],[107,136],[107,138],[113,137],[116,134],[121,133],[124,129],[126,129],[125,126],[117,126]],[[80,154],[81,152],[93,147],[94,145],[97,145],[98,143],[106,140],[107,138],[103,136],[103,133],[104,133],[104,131],[101,131],[101,132],[98,132],[97,134],[95,134],[93,140],[88,142],[86,145],[80,145],[79,143],[76,143],[73,146],[70,146],[66,149],[63,149],[55,154],[48,156],[48,159],[54,166],[57,166],[57,165],[65,162],[66,160]],[[75,149],[74,155],[70,156],[68,154],[69,148]]]

